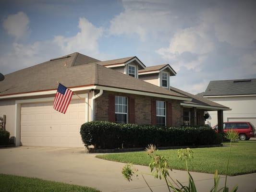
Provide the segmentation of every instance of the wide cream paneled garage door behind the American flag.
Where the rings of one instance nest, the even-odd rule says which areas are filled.
[[[85,123],[85,100],[72,100],[66,114],[54,110],[52,104],[21,105],[21,144],[83,147],[79,132]]]

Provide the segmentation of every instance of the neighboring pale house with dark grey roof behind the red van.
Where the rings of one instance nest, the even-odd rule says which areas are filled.
[[[249,121],[256,126],[256,79],[210,81],[206,91],[199,94],[210,101],[232,108],[224,111],[224,121]],[[210,111],[207,120],[217,124],[217,112]]]

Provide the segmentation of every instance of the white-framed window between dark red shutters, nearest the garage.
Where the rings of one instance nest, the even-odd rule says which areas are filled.
[[[115,96],[115,122],[127,123],[127,97]]]

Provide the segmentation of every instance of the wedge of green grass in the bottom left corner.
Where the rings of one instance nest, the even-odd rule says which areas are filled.
[[[0,192],[100,192],[61,182],[0,174]]]

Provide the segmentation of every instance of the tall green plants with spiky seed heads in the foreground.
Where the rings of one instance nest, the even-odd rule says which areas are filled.
[[[238,137],[238,135],[236,135],[237,133],[235,132],[229,132],[226,134],[226,137],[228,137],[231,140],[230,143],[230,151],[229,151],[229,157],[230,157],[230,153],[231,153],[231,145],[232,145],[232,140],[236,139]],[[160,156],[158,154],[155,153],[156,150],[156,146],[153,144],[149,144],[146,147],[146,152],[148,154],[148,156],[150,156],[151,161],[149,164],[149,168],[150,168],[150,172],[152,176],[154,176],[156,179],[165,179],[166,185],[168,187],[169,192],[196,192],[196,186],[195,186],[195,181],[193,179],[193,177],[191,176],[191,174],[189,173],[188,170],[188,161],[190,159],[193,158],[193,150],[191,150],[190,148],[186,148],[186,149],[180,149],[178,150],[178,159],[180,161],[184,161],[186,163],[186,169],[187,169],[187,173],[188,173],[188,186],[183,185],[180,181],[177,180],[177,182],[175,182],[169,174],[169,171],[171,171],[171,167],[168,164],[168,158],[166,156]],[[229,158],[228,158],[228,163],[227,163],[227,170],[229,167]],[[140,173],[138,172],[137,169],[135,168],[131,168],[130,165],[126,165],[124,166],[124,168],[122,169],[122,174],[124,176],[125,179],[127,179],[128,181],[132,180],[131,178],[133,177],[134,174],[136,174],[136,176],[138,176],[138,174],[147,174],[147,173]],[[145,180],[145,178],[143,177],[143,179]],[[171,181],[169,180],[171,179],[171,181],[175,184],[174,185],[171,184]],[[227,187],[227,172],[226,172],[226,179],[225,179],[225,186],[223,188],[219,189],[219,179],[220,177],[218,176],[218,170],[215,171],[215,175],[214,175],[214,186],[211,188],[210,192],[229,192],[229,188]],[[150,189],[151,192],[153,192],[153,190],[150,188],[149,184],[147,183],[147,181],[145,180],[148,188]],[[231,190],[231,192],[236,192],[238,190],[238,186],[234,186],[233,189]]]

